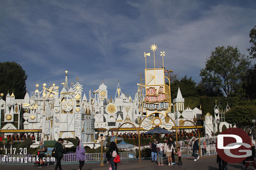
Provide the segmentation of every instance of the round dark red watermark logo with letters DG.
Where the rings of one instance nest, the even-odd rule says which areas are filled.
[[[239,128],[223,130],[216,140],[216,151],[222,160],[229,163],[238,163],[251,156],[251,139]]]

